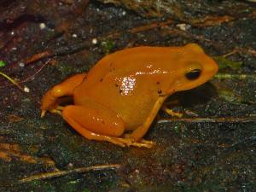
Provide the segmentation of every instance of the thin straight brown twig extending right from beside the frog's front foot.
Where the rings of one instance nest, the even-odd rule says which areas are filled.
[[[171,123],[171,122],[191,122],[191,123],[247,123],[255,122],[256,114],[249,117],[218,117],[218,118],[168,118],[160,119],[158,124]]]

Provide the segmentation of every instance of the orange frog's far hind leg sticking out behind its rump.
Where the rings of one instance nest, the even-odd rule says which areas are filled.
[[[41,101],[41,117],[43,117],[47,111],[60,113],[61,107],[58,106],[60,102],[59,98],[61,96],[72,96],[73,89],[81,84],[85,77],[86,73],[74,75],[61,84],[57,84],[52,89],[48,90]]]

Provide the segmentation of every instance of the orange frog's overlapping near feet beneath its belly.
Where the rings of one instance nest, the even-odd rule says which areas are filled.
[[[148,140],[144,140],[144,139],[141,139],[138,142],[134,142],[134,141],[132,141],[131,138],[113,138],[113,140],[110,141],[110,142],[114,143],[114,144],[117,144],[121,147],[134,146],[134,147],[138,147],[138,148],[152,148],[155,144],[152,141],[148,141]]]

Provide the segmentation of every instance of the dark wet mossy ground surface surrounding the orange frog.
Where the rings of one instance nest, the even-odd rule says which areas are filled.
[[[169,12],[154,9],[157,18],[148,15],[153,9],[147,3],[137,9],[125,1],[123,8],[86,0],[42,2],[0,0],[0,72],[29,89],[21,91],[0,75],[0,191],[256,189],[256,3],[195,1],[189,12],[180,1]],[[185,115],[173,119],[160,112],[145,137],[157,143],[154,148],[88,141],[59,115],[40,118],[44,92],[88,71],[103,55],[190,42],[218,61],[219,73],[172,96],[179,99],[174,109]],[[114,168],[75,170],[97,165]],[[42,178],[68,170],[73,173]],[[33,175],[38,177],[21,182]]]

